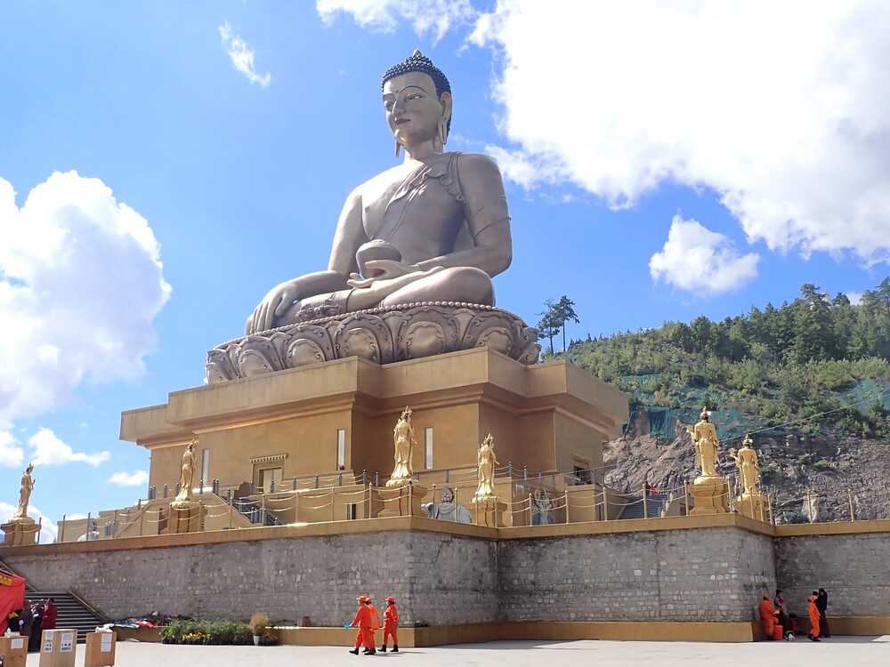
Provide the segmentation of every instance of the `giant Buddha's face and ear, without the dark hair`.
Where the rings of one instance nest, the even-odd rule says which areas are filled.
[[[436,96],[433,79],[423,72],[395,76],[384,84],[384,109],[395,140],[408,149],[439,135],[439,121],[451,113],[451,94]]]

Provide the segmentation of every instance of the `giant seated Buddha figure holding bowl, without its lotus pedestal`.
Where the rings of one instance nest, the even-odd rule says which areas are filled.
[[[482,155],[443,152],[451,86],[421,52],[384,74],[383,102],[404,161],[352,190],[328,270],[273,287],[247,318],[247,334],[410,303],[494,305],[491,277],[512,256],[498,166]]]

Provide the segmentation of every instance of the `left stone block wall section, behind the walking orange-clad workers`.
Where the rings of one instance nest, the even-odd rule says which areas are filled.
[[[112,619],[151,610],[198,618],[342,626],[355,597],[383,609],[392,595],[405,625],[493,621],[495,542],[419,531],[341,534],[182,547],[10,556],[37,590],[78,591]]]

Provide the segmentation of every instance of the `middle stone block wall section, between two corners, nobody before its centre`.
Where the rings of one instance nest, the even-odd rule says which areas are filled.
[[[498,545],[508,621],[750,621],[775,588],[773,540],[732,527]]]

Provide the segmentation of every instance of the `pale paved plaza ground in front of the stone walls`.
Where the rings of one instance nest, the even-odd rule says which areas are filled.
[[[77,647],[77,665],[83,664],[84,647]],[[38,655],[28,656],[28,667],[36,667]],[[399,654],[349,655],[344,647],[182,647],[122,642],[117,645],[117,667],[222,667],[263,665],[295,667],[306,665],[355,665],[390,661],[396,665],[546,665],[546,667],[738,667],[750,664],[781,664],[782,667],[837,667],[837,665],[890,664],[890,635],[884,637],[838,637],[814,644],[757,642],[748,644],[705,644],[643,641],[497,641],[439,648],[405,648]]]

